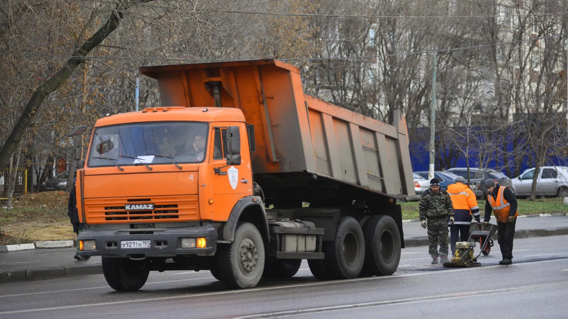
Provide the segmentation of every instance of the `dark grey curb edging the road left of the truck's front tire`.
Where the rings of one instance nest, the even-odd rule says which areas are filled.
[[[24,280],[43,280],[66,276],[82,276],[102,274],[101,264],[89,266],[53,267],[32,270],[15,270],[0,272],[0,283],[21,282]]]

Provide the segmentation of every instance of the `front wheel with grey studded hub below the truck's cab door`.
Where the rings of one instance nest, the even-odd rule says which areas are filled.
[[[219,245],[217,270],[229,288],[256,287],[264,271],[264,242],[256,226],[241,222],[235,230],[235,242]]]

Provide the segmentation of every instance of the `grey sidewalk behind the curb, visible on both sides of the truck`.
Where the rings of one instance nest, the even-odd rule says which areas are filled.
[[[491,222],[495,223],[495,219]],[[428,245],[426,230],[420,227],[420,222],[404,223],[403,230],[406,247]],[[517,219],[515,238],[556,235],[568,235],[568,216]],[[75,251],[69,247],[0,253],[0,282],[102,274],[101,257],[76,261]]]

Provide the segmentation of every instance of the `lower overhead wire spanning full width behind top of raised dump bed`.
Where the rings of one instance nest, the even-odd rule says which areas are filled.
[[[448,49],[432,49],[432,50],[425,50],[425,51],[417,51],[417,52],[404,52],[404,53],[391,53],[391,54],[375,54],[375,55],[368,55],[368,56],[344,56],[344,57],[312,57],[312,58],[282,58],[278,59],[280,61],[325,61],[325,60],[351,60],[355,58],[373,58],[373,57],[392,57],[392,56],[408,56],[414,54],[425,54],[425,53],[433,53],[433,52],[452,52],[452,51],[461,51],[461,50],[469,50],[469,49],[481,49],[481,48],[488,48],[497,45],[506,45],[506,44],[516,44],[516,43],[525,43],[530,41],[537,41],[537,40],[545,40],[545,39],[552,39],[554,37],[561,37],[566,36],[568,33],[559,33],[556,35],[550,36],[541,36],[535,37],[533,39],[523,39],[523,40],[515,40],[515,41],[508,41],[508,42],[499,42],[499,43],[492,43],[492,44],[482,44],[482,45],[473,45],[470,47],[461,47],[461,48],[448,48]],[[103,61],[103,60],[125,60],[125,61],[172,61],[172,62],[206,62],[203,60],[195,60],[195,59],[183,59],[183,58],[157,58],[157,57],[116,57],[116,56],[100,56],[100,57],[93,57],[93,56],[72,56],[72,55],[65,55],[65,54],[48,54],[48,53],[26,53],[26,52],[1,52],[1,55],[17,55],[17,56],[32,56],[32,57],[61,57],[61,58],[77,58],[80,60],[89,60],[89,61]],[[234,60],[211,60],[210,62],[227,62],[227,61],[234,61]]]

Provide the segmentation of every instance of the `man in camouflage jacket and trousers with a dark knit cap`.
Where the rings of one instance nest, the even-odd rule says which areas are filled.
[[[424,191],[419,205],[420,225],[428,227],[428,252],[432,265],[438,263],[438,241],[440,242],[440,263],[448,261],[448,224],[454,223],[452,199],[446,191],[440,190],[440,181],[432,178],[430,188]]]

